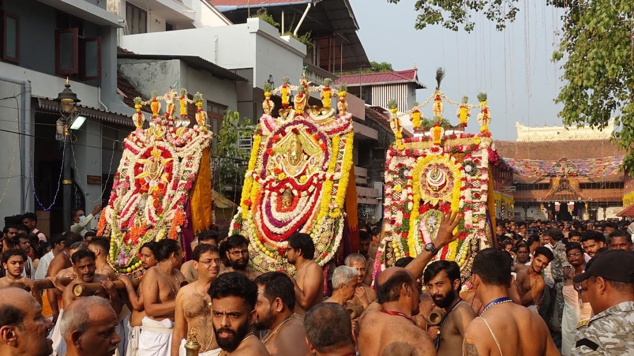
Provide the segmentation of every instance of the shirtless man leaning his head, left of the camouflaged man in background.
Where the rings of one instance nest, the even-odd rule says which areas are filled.
[[[540,246],[535,249],[531,265],[515,266],[522,305],[535,313],[538,313],[541,298],[546,288],[541,271],[550,264],[553,258],[554,255],[549,248]]]

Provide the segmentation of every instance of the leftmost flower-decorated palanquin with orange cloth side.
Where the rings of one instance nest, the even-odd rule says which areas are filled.
[[[145,102],[134,99],[136,130],[124,140],[110,201],[99,220],[98,234],[110,236],[108,263],[120,273],[141,272],[139,249],[144,243],[169,238],[188,246],[193,232],[213,224],[212,132],[207,130],[202,94],[192,100],[185,89],[171,89],[162,97],[156,92],[152,96]],[[166,108],[161,114],[162,100]],[[193,125],[188,103],[197,107]],[[152,110],[146,129],[144,105]]]

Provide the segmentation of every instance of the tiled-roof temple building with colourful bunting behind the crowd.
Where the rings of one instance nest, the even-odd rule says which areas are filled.
[[[503,218],[618,219],[623,210],[625,174],[619,167],[624,151],[610,141],[613,124],[602,131],[515,126],[517,141],[495,143],[501,166],[512,172],[512,184],[503,194],[512,196],[513,213]]]

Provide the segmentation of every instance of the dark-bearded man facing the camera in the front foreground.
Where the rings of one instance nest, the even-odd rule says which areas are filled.
[[[251,331],[256,321],[257,285],[240,272],[216,278],[209,288],[212,321],[220,356],[269,356]]]

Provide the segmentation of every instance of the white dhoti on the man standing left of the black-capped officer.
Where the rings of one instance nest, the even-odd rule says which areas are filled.
[[[577,325],[579,321],[592,317],[592,307],[586,302],[579,308],[579,294],[574,286],[564,286],[562,294],[564,295],[564,314],[561,320],[561,354],[570,356]]]

